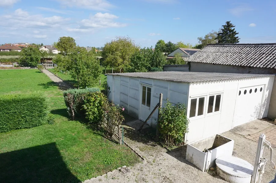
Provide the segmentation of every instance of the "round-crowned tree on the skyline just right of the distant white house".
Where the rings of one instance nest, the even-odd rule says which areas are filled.
[[[67,55],[76,47],[76,42],[75,39],[64,36],[58,39],[57,44],[55,46],[57,50],[61,52],[62,55]]]

